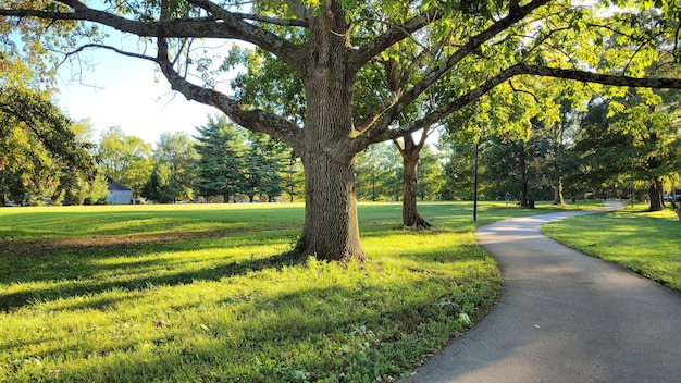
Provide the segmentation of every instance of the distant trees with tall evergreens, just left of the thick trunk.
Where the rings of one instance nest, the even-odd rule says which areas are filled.
[[[301,169],[282,143],[248,132],[225,116],[209,116],[197,134],[164,133],[152,149],[112,127],[102,135],[98,159],[108,177],[127,185],[136,198],[176,201],[296,200]],[[123,146],[111,150],[111,146]],[[115,153],[109,157],[108,153]],[[115,158],[119,160],[115,160]]]

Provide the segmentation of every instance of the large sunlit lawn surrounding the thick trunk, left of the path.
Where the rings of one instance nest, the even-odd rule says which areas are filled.
[[[389,381],[500,292],[472,231],[542,213],[359,207],[369,261],[278,263],[301,205],[0,209],[2,382]]]

